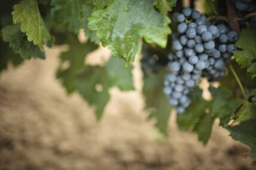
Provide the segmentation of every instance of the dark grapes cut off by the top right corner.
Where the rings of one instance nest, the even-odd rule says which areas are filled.
[[[255,0],[233,0],[236,10],[238,10],[243,15],[256,12],[256,1]],[[256,16],[249,18],[249,23],[251,26],[256,26]]]

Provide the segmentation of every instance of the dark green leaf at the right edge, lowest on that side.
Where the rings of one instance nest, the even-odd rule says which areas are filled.
[[[256,157],[256,119],[241,122],[236,126],[229,126],[230,135],[234,140],[240,141],[251,148],[249,156]]]

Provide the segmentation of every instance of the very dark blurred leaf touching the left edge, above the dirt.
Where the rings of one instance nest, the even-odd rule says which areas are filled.
[[[7,69],[8,63],[11,63],[13,66],[19,66],[23,59],[15,54],[13,50],[9,47],[8,43],[3,42],[0,39],[0,72]]]

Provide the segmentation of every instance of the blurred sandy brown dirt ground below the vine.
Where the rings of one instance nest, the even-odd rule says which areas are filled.
[[[45,61],[26,61],[0,75],[1,170],[254,169],[248,147],[231,140],[215,122],[204,147],[196,135],[180,132],[175,115],[167,141],[145,121],[141,73],[137,91],[111,89],[105,115],[97,123],[93,107],[78,94],[66,95],[54,78],[59,50]]]

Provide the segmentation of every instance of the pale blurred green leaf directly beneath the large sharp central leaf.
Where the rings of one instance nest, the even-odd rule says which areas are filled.
[[[132,66],[124,68],[124,61],[117,57],[111,57],[106,62],[109,85],[117,86],[122,91],[133,90]]]

